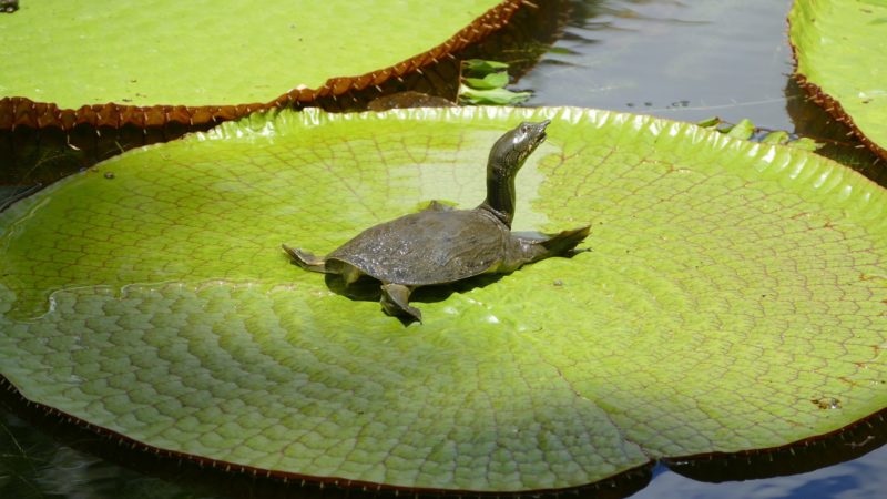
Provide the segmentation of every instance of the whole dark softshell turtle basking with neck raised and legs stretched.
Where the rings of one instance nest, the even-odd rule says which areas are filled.
[[[511,232],[514,176],[546,140],[549,122],[521,123],[496,141],[487,162],[487,198],[473,210],[432,203],[426,211],[367,228],[325,258],[285,244],[283,248],[302,268],[337,274],[346,287],[361,276],[379,281],[385,312],[419,322],[421,312],[409,305],[416,287],[508,274],[523,264],[569,254],[589,235],[588,226],[548,238]]]

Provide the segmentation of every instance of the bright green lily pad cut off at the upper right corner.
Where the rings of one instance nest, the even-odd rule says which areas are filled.
[[[887,159],[887,2],[796,1],[796,74],[813,99]]]

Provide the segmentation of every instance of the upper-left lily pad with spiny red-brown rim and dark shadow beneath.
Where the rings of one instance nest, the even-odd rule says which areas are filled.
[[[0,184],[53,182],[258,109],[455,100],[458,58],[557,31],[559,2],[522,4],[24,2],[0,19]]]

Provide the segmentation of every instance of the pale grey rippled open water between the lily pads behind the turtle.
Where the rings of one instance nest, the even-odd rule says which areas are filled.
[[[784,93],[791,0],[585,0],[519,86],[528,105],[580,105],[684,121],[712,115],[793,130]]]

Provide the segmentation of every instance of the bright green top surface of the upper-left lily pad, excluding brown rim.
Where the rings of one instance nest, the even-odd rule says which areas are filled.
[[[266,103],[421,54],[498,3],[29,1],[0,18],[0,98],[61,109]]]

